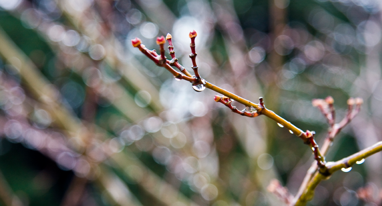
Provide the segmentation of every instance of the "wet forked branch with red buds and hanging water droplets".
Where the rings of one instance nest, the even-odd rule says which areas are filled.
[[[382,151],[382,142],[378,142],[369,148],[366,148],[356,154],[353,154],[347,158],[339,160],[337,162],[325,162],[325,155],[328,153],[330,146],[333,143],[335,136],[345,127],[360,111],[361,105],[363,103],[360,98],[350,98],[347,101],[348,110],[343,118],[343,120],[337,124],[335,124],[335,108],[334,108],[334,100],[332,97],[328,97],[325,100],[316,99],[313,100],[313,106],[318,107],[321,113],[325,116],[326,121],[330,125],[330,129],[328,131],[328,135],[325,138],[322,150],[318,149],[318,144],[314,140],[314,131],[307,130],[304,132],[302,129],[294,126],[290,122],[283,119],[281,116],[276,114],[275,112],[268,110],[264,106],[263,98],[260,97],[259,104],[253,103],[247,99],[244,99],[234,93],[231,93],[227,90],[222,89],[219,86],[216,86],[205,79],[203,79],[199,72],[198,66],[196,64],[196,50],[195,50],[195,38],[197,33],[195,31],[189,33],[189,38],[191,39],[190,48],[192,53],[189,55],[193,62],[192,69],[194,70],[195,75],[191,75],[183,66],[178,63],[178,60],[175,56],[174,46],[172,42],[171,34],[168,34],[166,39],[169,43],[170,55],[172,57],[171,60],[167,60],[164,55],[164,46],[165,44],[164,38],[158,37],[157,44],[160,47],[160,55],[156,53],[155,50],[149,50],[142,44],[141,40],[135,38],[131,40],[131,43],[134,47],[138,47],[142,53],[144,53],[150,60],[152,60],[157,66],[164,67],[170,73],[173,74],[174,78],[181,80],[184,79],[189,81],[193,85],[193,89],[196,92],[202,92],[205,88],[215,91],[217,93],[222,94],[223,96],[215,95],[215,101],[224,104],[232,112],[240,114],[242,116],[247,117],[257,117],[259,115],[265,115],[270,119],[276,121],[280,127],[287,128],[291,133],[295,134],[297,137],[301,138],[305,144],[309,145],[314,154],[315,162],[312,163],[311,168],[308,170],[307,175],[304,178],[304,181],[299,188],[297,194],[291,196],[286,188],[282,187],[279,183],[276,184],[274,182],[274,186],[270,187],[270,192],[275,193],[279,196],[286,204],[288,205],[306,205],[306,203],[311,200],[314,196],[314,189],[317,185],[326,179],[329,179],[331,174],[340,169],[350,168],[357,161],[364,160],[366,157],[375,154],[379,151]],[[176,67],[180,72],[176,71],[172,68],[172,66]],[[233,101],[237,101],[245,106],[243,110],[238,110],[235,106],[232,106],[231,103]]]

